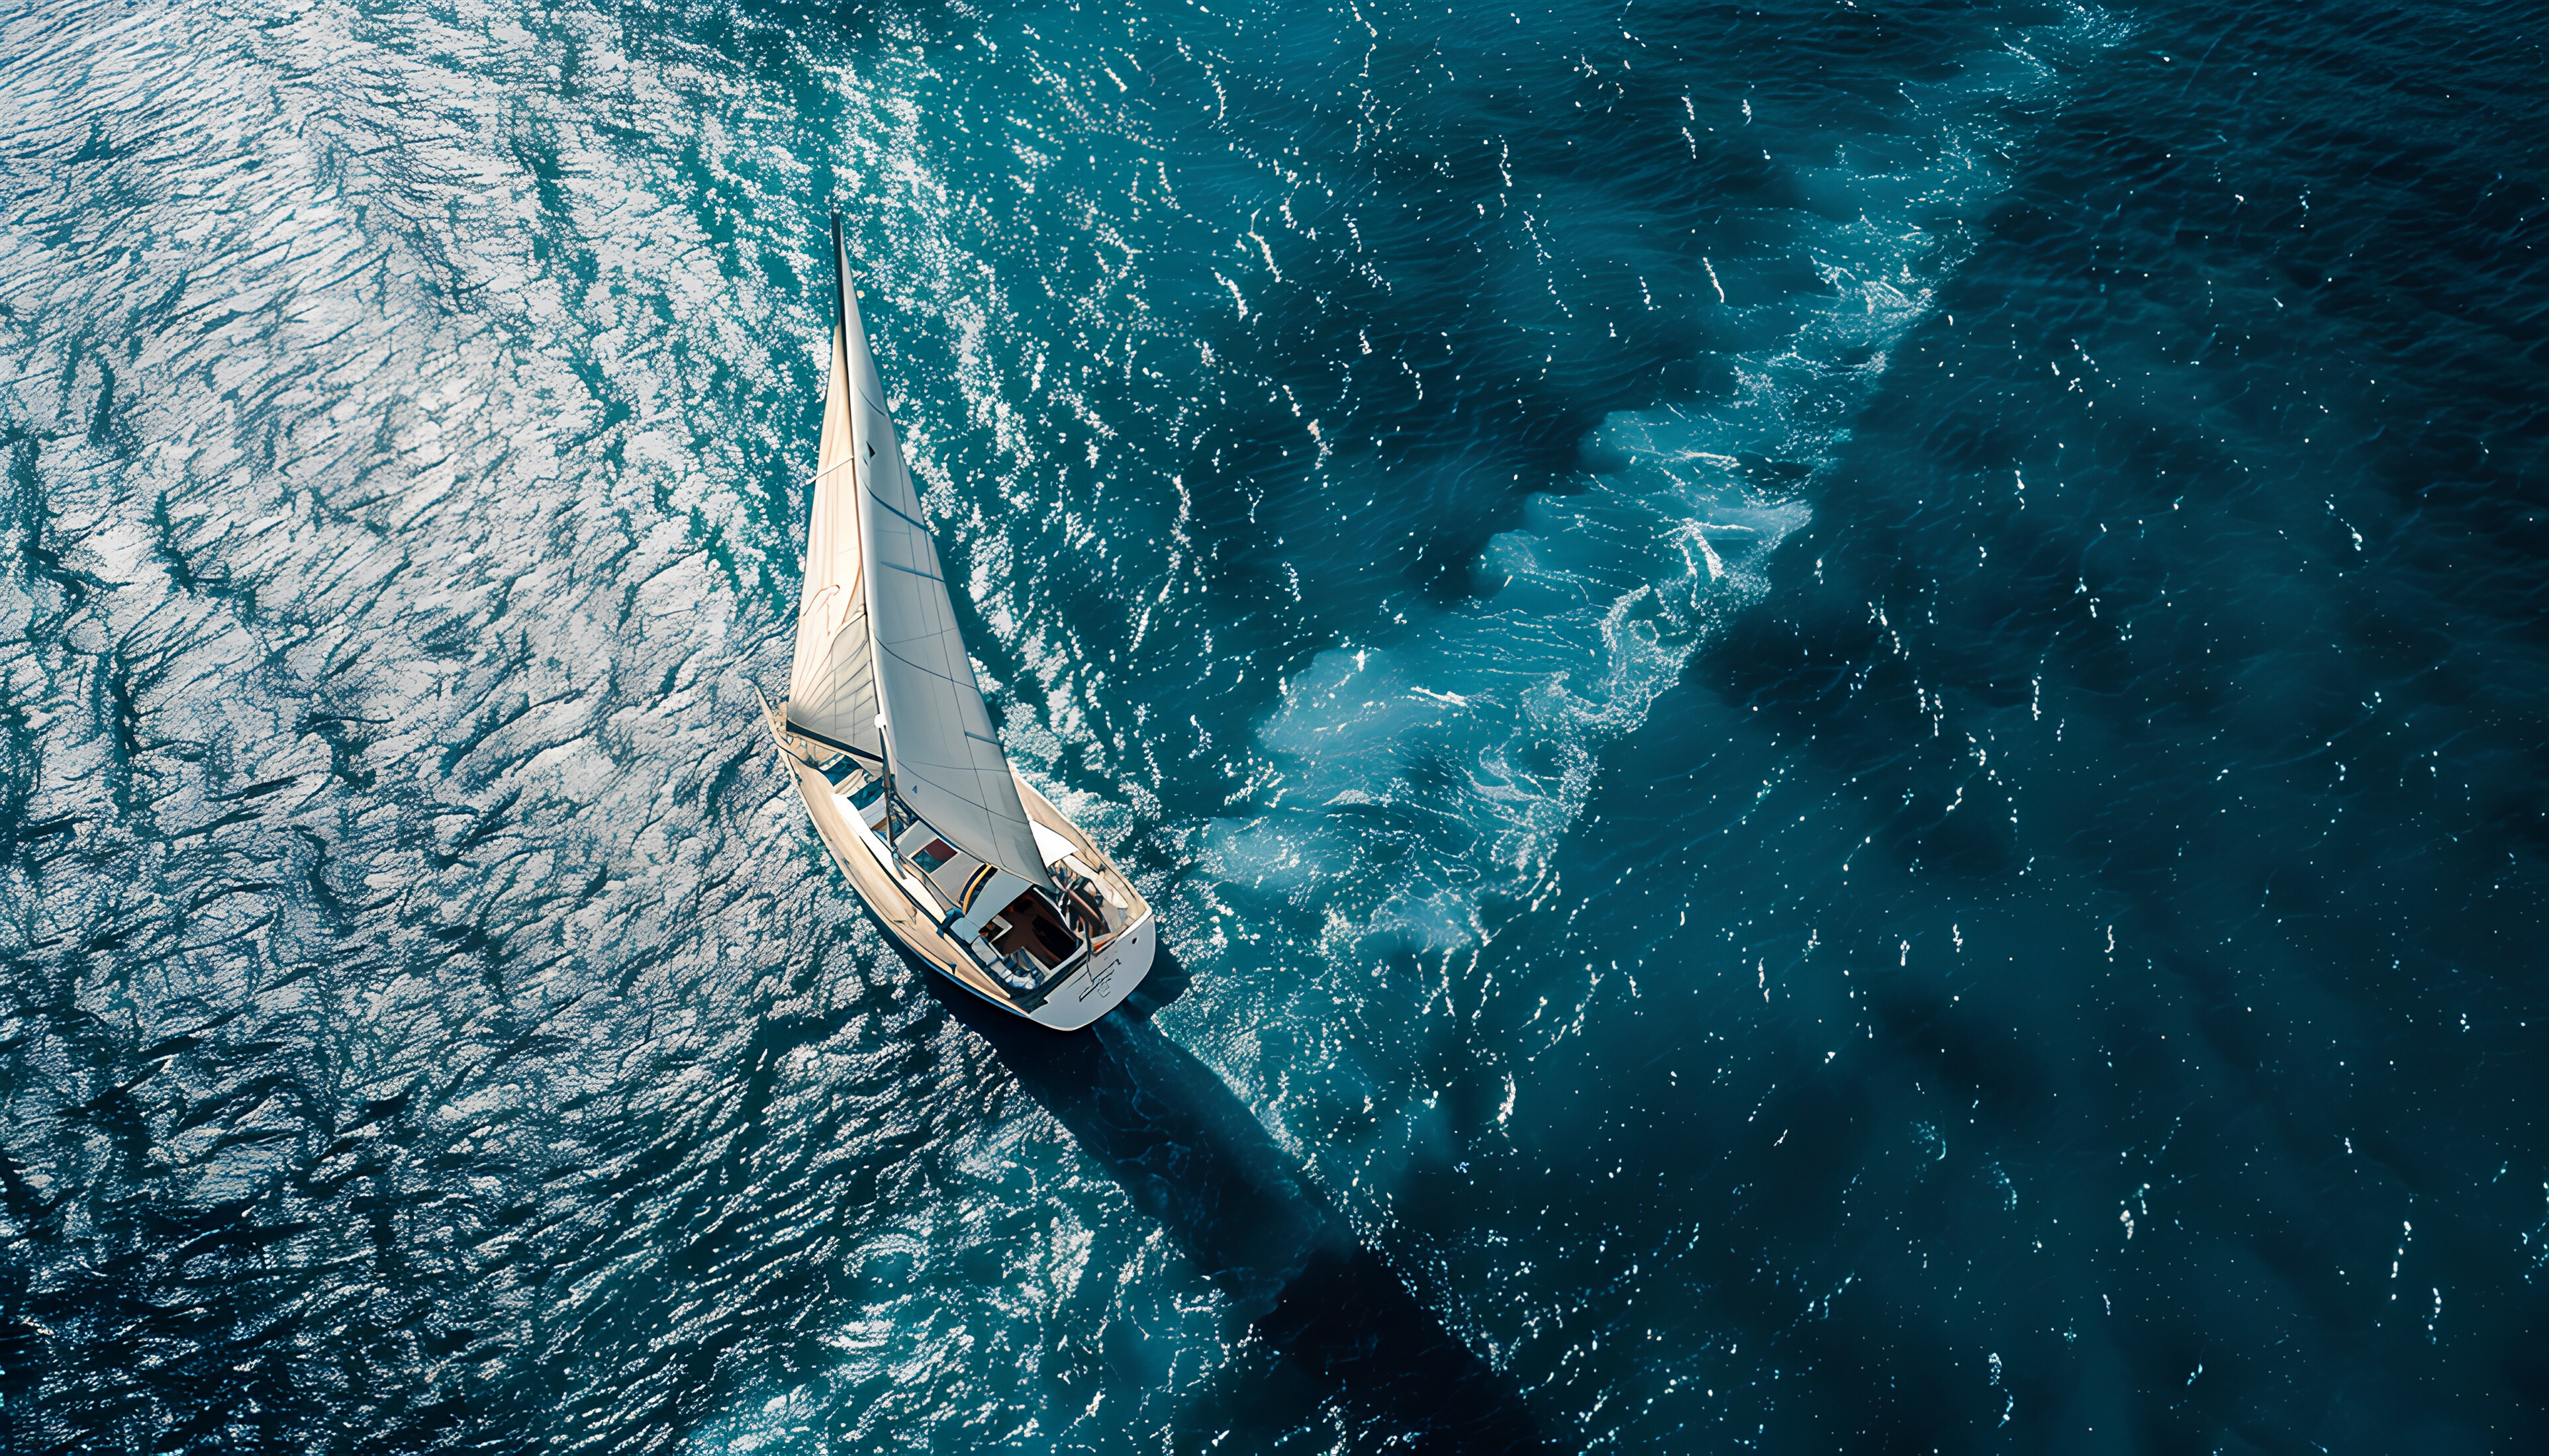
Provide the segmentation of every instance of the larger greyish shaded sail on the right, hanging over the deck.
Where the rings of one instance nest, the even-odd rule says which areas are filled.
[[[856,477],[859,502],[859,579],[867,612],[864,630],[874,650],[872,729],[882,737],[887,778],[895,793],[923,824],[951,847],[1007,870],[1017,880],[1055,890],[1035,829],[1009,778],[992,714],[984,709],[974,660],[956,632],[956,607],[948,599],[938,546],[920,518],[920,497],[885,411],[885,385],[859,321],[856,291],[849,288],[849,255],[834,222],[834,263],[839,268],[839,337],[834,380],[846,380],[849,451],[846,472]],[[823,467],[831,467],[831,400],[826,400]],[[808,574],[808,584],[813,576]],[[856,609],[851,609],[856,612]],[[862,622],[851,622],[862,625]],[[844,739],[851,742],[851,739]],[[854,747],[854,745],[851,745]],[[994,890],[997,892],[997,890]],[[1002,900],[1004,903],[1004,900]],[[994,910],[997,905],[984,905]]]

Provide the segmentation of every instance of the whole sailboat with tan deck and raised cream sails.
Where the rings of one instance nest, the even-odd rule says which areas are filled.
[[[762,704],[816,836],[885,931],[1053,1030],[1150,972],[1157,918],[1088,834],[1009,768],[938,543],[885,408],[831,219],[823,441],[788,699]]]

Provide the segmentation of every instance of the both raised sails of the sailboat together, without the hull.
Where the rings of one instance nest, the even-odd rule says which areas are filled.
[[[882,760],[895,796],[953,849],[1058,890],[956,632],[938,546],[920,518],[849,286],[839,219],[834,268],[831,388],[790,727]],[[805,694],[805,714],[795,694]]]

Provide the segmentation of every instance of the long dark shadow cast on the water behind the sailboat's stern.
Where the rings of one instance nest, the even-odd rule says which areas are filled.
[[[1244,1349],[1224,1374],[1218,1418],[1287,1425],[1333,1397],[1351,1448],[1555,1451],[1519,1395],[1354,1239],[1229,1084],[1152,1025],[1185,989],[1165,949],[1142,989],[1081,1033],[1022,1023],[941,977],[928,984],[1249,1318],[1264,1349]]]

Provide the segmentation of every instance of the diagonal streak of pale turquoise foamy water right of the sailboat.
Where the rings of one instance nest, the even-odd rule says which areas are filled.
[[[1812,209],[1777,214],[1769,255],[1805,263],[1823,291],[1726,309],[1736,321],[1718,331],[1751,344],[1728,357],[1723,398],[1611,416],[1585,449],[1598,474],[1529,500],[1484,551],[1478,597],[1374,622],[1285,683],[1259,729],[1272,760],[1259,793],[1201,836],[1206,872],[1183,887],[1180,943],[1229,966],[1213,1010],[1183,1028],[1262,1089],[1369,1234],[1387,1239],[1407,1160],[1443,1140],[1440,1089],[1394,1051],[1412,1017],[1468,1023],[1496,994],[1478,979],[1481,908],[1537,905],[1563,880],[1555,852],[1603,747],[1759,599],[1769,553],[1807,520],[1802,487],[1845,439],[1886,347],[1970,247],[1940,219],[1978,217],[2004,184],[2001,153],[2024,140],[2004,107],[2052,99],[2054,61],[2116,36],[2105,15],[2072,10],[1991,31],[1953,82],[1904,87],[1884,161],[1858,168],[1843,150],[1802,168]],[[1726,298],[1718,268],[1703,260],[1695,288]],[[1351,500],[1359,482],[1336,492]],[[1269,964],[1274,946],[1315,954]],[[1389,964],[1412,977],[1379,989]],[[1601,969],[1585,979],[1593,994]],[[1636,994],[1634,977],[1614,977],[1614,994]],[[1522,1061],[1471,1045],[1455,1074],[1501,1071],[1512,1086]],[[1305,1063],[1315,1079],[1297,1076]],[[1371,1114],[1374,1096],[1392,1112]]]

